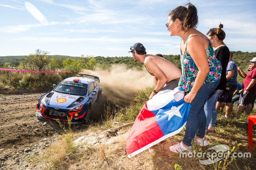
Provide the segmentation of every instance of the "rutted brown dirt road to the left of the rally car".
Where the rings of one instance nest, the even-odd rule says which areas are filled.
[[[39,142],[56,136],[56,130],[35,115],[36,103],[43,94],[0,96],[0,169],[24,168],[22,161],[29,152]]]

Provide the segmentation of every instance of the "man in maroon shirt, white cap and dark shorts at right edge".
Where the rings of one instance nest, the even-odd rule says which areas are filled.
[[[250,115],[252,110],[252,105],[249,105],[254,102],[256,98],[256,57],[254,57],[252,60],[250,60],[251,66],[253,68],[252,71],[250,71],[247,76],[244,79],[243,85],[242,85],[242,92],[239,98],[239,106],[237,115],[241,115],[242,111],[244,110],[244,107],[246,105],[246,115]]]

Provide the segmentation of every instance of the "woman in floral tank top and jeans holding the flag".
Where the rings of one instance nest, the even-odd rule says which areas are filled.
[[[220,61],[215,58],[211,41],[195,29],[198,22],[196,7],[190,3],[187,5],[172,10],[166,24],[171,36],[181,37],[182,76],[178,88],[185,91],[184,101],[191,104],[185,136],[182,142],[170,147],[172,152],[189,151],[193,138],[200,146],[208,145],[204,137],[204,104],[219,85],[222,69]]]

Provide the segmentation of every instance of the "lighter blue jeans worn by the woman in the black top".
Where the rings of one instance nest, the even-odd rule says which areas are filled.
[[[218,97],[223,92],[223,90],[214,90],[206,99],[204,104],[204,112],[206,115],[206,125],[205,129],[208,129],[208,126],[215,127],[216,120],[217,120],[217,110],[216,110],[216,103]]]

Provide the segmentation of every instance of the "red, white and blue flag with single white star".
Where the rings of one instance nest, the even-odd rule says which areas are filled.
[[[184,128],[191,104],[185,103],[183,97],[184,91],[177,87],[158,92],[144,104],[126,141],[129,158]]]

